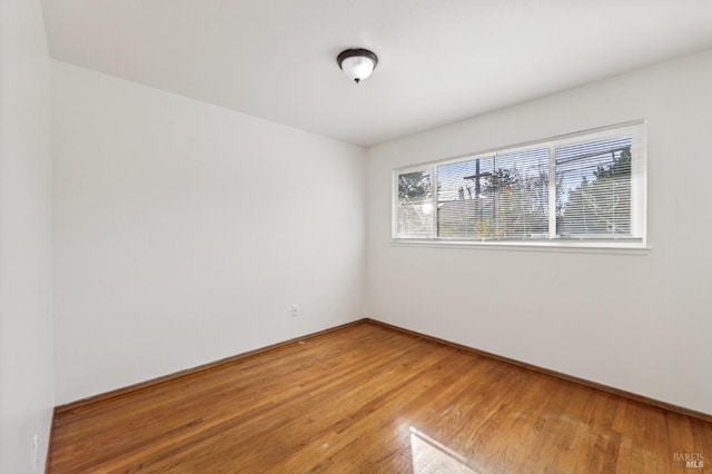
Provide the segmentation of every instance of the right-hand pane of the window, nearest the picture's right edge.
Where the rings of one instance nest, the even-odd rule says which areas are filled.
[[[631,137],[556,149],[556,233],[631,235]]]

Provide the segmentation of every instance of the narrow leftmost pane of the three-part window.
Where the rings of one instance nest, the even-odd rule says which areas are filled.
[[[397,237],[433,237],[431,170],[398,175]]]

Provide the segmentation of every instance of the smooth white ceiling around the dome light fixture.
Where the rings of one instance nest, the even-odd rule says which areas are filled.
[[[56,59],[362,146],[712,48],[710,0],[42,3]]]

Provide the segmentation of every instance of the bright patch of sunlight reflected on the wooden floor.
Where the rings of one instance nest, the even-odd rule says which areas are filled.
[[[411,426],[411,455],[413,472],[477,474],[467,467],[467,460],[449,447]]]

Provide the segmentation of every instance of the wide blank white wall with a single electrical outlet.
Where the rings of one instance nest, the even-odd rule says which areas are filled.
[[[58,404],[364,316],[362,148],[52,72]]]

